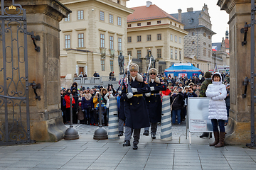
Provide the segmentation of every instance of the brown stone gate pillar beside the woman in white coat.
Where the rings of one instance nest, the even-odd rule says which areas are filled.
[[[242,98],[245,89],[242,81],[245,77],[250,78],[251,28],[247,33],[247,45],[244,46],[241,43],[244,34],[240,33],[240,29],[244,28],[245,22],[251,23],[251,2],[219,0],[218,6],[229,14],[230,19],[230,117],[225,128],[225,143],[245,145],[250,143],[250,86],[247,88],[247,97]]]

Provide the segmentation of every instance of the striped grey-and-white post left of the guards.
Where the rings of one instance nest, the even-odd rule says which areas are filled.
[[[110,140],[119,140],[117,97],[110,97],[110,120],[108,137]]]

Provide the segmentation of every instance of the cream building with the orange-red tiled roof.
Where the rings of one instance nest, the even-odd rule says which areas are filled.
[[[139,64],[139,72],[146,72],[148,50],[156,62],[154,67],[163,73],[174,63],[184,60],[184,24],[150,1],[146,6],[132,8],[127,17],[127,53]]]

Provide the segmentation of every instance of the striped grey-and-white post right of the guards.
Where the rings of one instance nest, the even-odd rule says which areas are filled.
[[[163,96],[161,140],[172,140],[170,96]]]

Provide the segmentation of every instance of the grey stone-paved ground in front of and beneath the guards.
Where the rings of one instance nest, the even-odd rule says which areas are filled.
[[[242,146],[209,147],[213,139],[201,139],[191,133],[191,145],[185,138],[186,126],[172,126],[173,140],[161,141],[141,135],[139,149],[122,147],[119,140],[93,140],[97,127],[74,125],[78,140],[37,142],[35,145],[0,147],[0,170],[153,170],[153,169],[256,169],[256,150]],[[106,130],[107,127],[104,127]],[[142,130],[142,133],[144,130]]]

